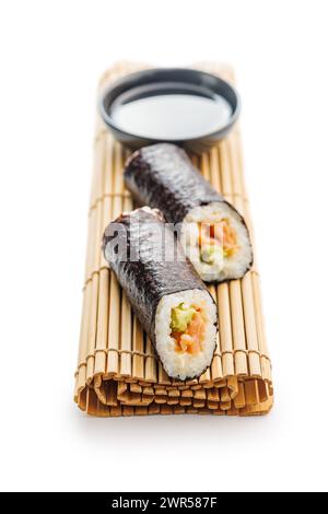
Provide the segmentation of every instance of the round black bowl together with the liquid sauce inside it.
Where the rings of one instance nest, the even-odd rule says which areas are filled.
[[[171,68],[124,78],[103,94],[99,108],[115,137],[132,149],[168,141],[202,151],[232,128],[239,100],[215,75]]]

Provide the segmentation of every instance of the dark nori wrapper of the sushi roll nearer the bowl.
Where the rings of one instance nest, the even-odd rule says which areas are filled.
[[[127,161],[125,184],[140,206],[160,209],[175,224],[192,208],[214,201],[234,209],[175,144],[159,143],[136,151]]]

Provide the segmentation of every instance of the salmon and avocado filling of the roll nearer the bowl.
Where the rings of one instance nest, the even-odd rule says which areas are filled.
[[[232,257],[238,249],[237,235],[227,219],[218,223],[199,223],[199,247],[201,260],[212,264],[218,253]]]

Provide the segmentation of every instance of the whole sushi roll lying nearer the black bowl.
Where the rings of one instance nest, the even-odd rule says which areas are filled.
[[[242,278],[253,264],[242,215],[169,143],[144,147],[127,161],[126,187],[140,205],[160,209],[207,282]]]

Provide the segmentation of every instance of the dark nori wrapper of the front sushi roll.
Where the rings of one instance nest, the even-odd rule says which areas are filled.
[[[109,223],[103,250],[154,347],[156,307],[164,295],[200,289],[212,299],[156,210],[137,209]]]

